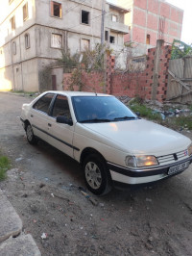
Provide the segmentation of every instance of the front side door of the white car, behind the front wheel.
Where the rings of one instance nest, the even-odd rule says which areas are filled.
[[[60,151],[73,157],[73,134],[74,125],[59,123],[56,117],[62,115],[67,119],[71,118],[68,99],[58,94],[48,121],[48,142],[60,149]]]

